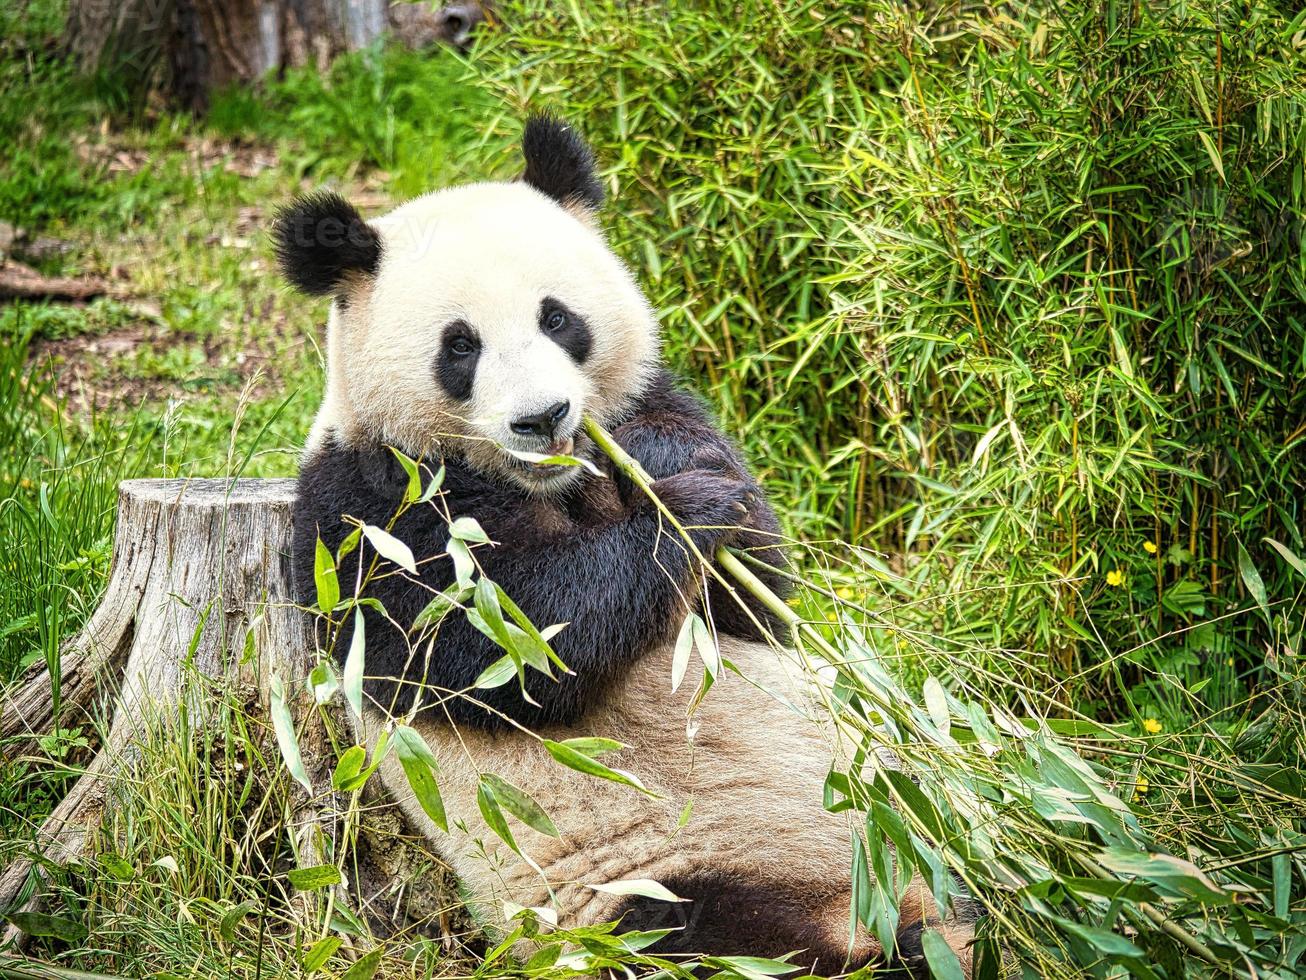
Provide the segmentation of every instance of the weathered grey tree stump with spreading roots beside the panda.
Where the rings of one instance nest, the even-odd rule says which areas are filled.
[[[260,700],[276,676],[293,707],[296,698],[308,700],[310,617],[294,605],[290,581],[294,499],[293,480],[121,485],[108,588],[86,629],[63,651],[57,704],[52,678],[34,669],[0,713],[0,745],[10,758],[56,723],[67,727],[93,715],[108,723],[94,760],[39,832],[46,858],[63,864],[82,853],[98,826],[108,777],[131,764],[132,745],[151,712],[184,699],[200,724],[212,715],[212,699],[183,683],[188,672],[252,685]],[[255,655],[246,657],[249,651]],[[329,785],[324,770],[333,760],[313,743],[313,730],[308,727],[300,737],[306,767],[315,785]],[[39,862],[29,858],[0,874],[0,909],[17,911],[14,902],[33,872],[39,874]]]

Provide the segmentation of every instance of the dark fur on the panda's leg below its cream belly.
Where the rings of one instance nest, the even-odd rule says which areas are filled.
[[[837,875],[835,875],[837,878]],[[674,929],[646,951],[653,955],[703,954],[716,956],[778,958],[818,976],[844,972],[848,947],[836,942],[831,923],[812,915],[821,908],[848,906],[844,882],[808,881],[803,892],[774,882],[743,881],[721,872],[697,872],[661,883],[684,903],[632,898],[620,909],[622,932]],[[615,917],[615,916],[614,916]],[[854,962],[852,970],[866,966]],[[879,972],[876,972],[879,976]]]

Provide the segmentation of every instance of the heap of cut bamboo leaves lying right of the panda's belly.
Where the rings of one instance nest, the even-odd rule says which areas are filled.
[[[918,873],[940,907],[965,882],[989,912],[980,947],[1000,943],[1037,976],[1299,973],[1299,632],[1280,638],[1282,657],[1271,665],[1277,687],[1267,702],[1279,707],[1267,711],[1282,741],[1262,742],[1260,724],[1230,750],[1213,719],[1174,733],[1155,721],[1139,736],[1074,711],[1058,720],[1047,708],[1007,707],[1040,704],[1045,687],[995,696],[982,679],[946,687],[929,677],[917,698],[865,639],[896,631],[838,608],[837,655],[814,653],[838,670],[835,711],[859,747],[833,767],[827,805],[862,825],[854,904],[868,929],[892,937],[901,885]],[[910,649],[943,661],[929,640],[914,638]],[[900,770],[876,762],[884,749]],[[930,962],[948,975],[940,950]]]

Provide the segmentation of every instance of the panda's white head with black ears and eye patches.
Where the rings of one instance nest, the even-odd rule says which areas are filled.
[[[372,221],[334,193],[278,216],[286,278],[333,297],[310,452],[334,436],[453,455],[547,493],[579,468],[512,453],[580,453],[584,416],[611,422],[641,393],[658,325],[598,230],[593,154],[547,116],[528,122],[522,153],[520,180],[436,191]]]

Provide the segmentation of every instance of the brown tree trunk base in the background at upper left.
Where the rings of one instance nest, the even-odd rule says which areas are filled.
[[[464,46],[488,0],[440,10],[389,0],[72,0],[65,43],[88,72],[135,98],[162,89],[202,111],[209,94],[282,68],[313,64],[392,34],[410,47]]]

